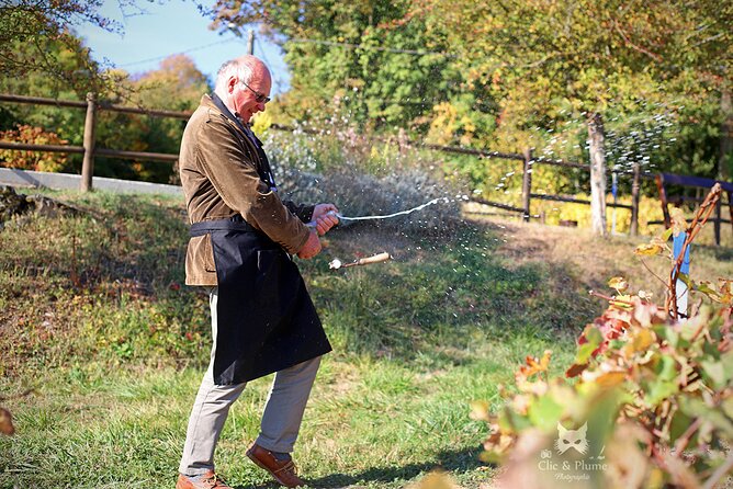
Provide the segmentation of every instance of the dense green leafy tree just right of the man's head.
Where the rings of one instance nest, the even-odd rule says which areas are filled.
[[[323,107],[361,127],[405,127],[426,133],[433,106],[460,96],[446,34],[405,21],[407,0],[219,0],[214,25],[226,30],[262,23],[281,42],[292,70],[284,103],[298,120]],[[330,115],[329,115],[330,116]]]

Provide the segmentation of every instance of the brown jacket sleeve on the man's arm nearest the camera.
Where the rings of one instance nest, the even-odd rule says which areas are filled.
[[[260,180],[256,157],[237,137],[237,129],[210,115],[199,130],[196,158],[224,203],[287,252],[296,253],[311,231]]]

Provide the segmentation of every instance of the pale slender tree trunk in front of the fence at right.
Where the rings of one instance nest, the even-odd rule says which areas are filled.
[[[590,148],[590,219],[593,231],[606,236],[606,152],[604,118],[598,113],[588,116]]]

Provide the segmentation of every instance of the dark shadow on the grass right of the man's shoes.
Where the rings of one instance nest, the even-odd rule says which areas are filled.
[[[408,481],[435,469],[449,473],[474,470],[484,465],[478,460],[480,453],[481,447],[478,446],[475,448],[444,451],[438,454],[437,462],[408,464],[402,467],[372,467],[358,474],[331,474],[319,479],[306,478],[306,482],[308,484],[307,487],[314,489],[345,488],[372,482]],[[235,489],[271,489],[279,487],[281,486],[273,481],[259,486],[235,486]]]

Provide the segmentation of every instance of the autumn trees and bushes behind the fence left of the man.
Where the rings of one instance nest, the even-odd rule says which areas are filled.
[[[78,46],[78,49],[74,50],[69,46]],[[79,73],[100,69],[89,59],[89,52],[81,39],[71,33],[64,37],[64,42],[49,37],[38,39],[34,45],[19,43],[13,56],[18,59],[31,58],[36,49],[43,49],[46,57],[54,60],[55,69],[59,72]],[[103,82],[97,84],[94,80]],[[98,100],[103,102],[187,111],[195,109],[201,95],[210,91],[210,87],[206,77],[185,56],[167,58],[161,61],[160,69],[148,71],[135,79],[131,79],[124,71],[112,69],[93,73],[90,71],[89,76],[77,78],[50,78],[43,67],[27,71],[23,77],[0,75],[0,92],[5,93],[84,100],[88,91],[94,91]],[[97,117],[97,145],[100,148],[177,153],[184,124],[181,120],[100,111]],[[25,128],[22,134],[40,130],[43,137],[47,138],[46,134],[53,133],[69,145],[81,146],[84,111],[31,104],[3,106],[0,113],[0,130],[4,130],[8,138],[20,130],[19,126],[25,125],[31,127]],[[68,158],[56,155],[58,158],[53,170],[80,170],[81,158],[78,155]],[[8,160],[8,164],[12,163],[8,155],[3,158]],[[44,158],[48,159],[47,156]],[[34,163],[29,160],[26,164]],[[52,166],[46,164],[44,168],[52,169]],[[95,174],[100,177],[168,183],[173,173],[172,166],[165,162],[98,157],[95,163]]]

